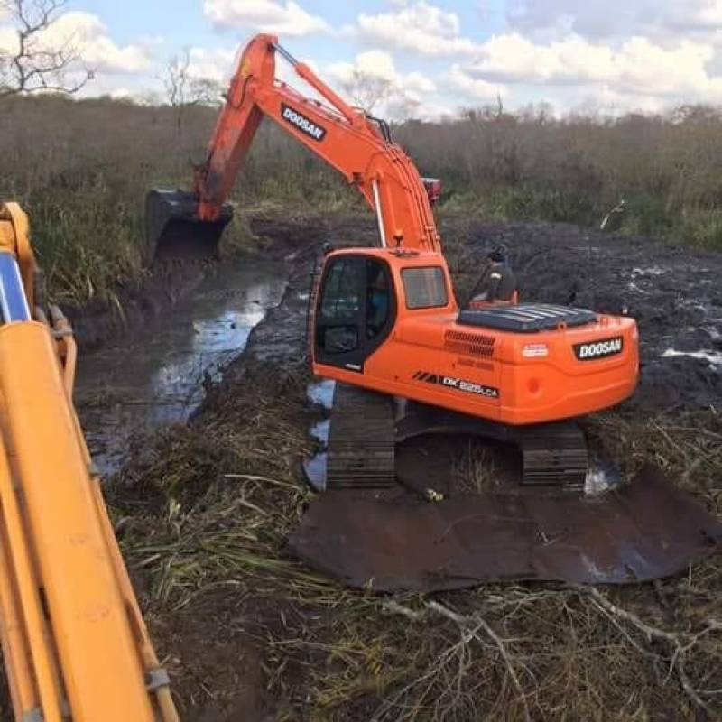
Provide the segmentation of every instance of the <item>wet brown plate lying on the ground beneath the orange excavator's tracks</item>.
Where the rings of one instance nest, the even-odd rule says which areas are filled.
[[[464,588],[504,579],[629,584],[722,550],[722,522],[659,469],[602,498],[331,491],[309,506],[292,553],[350,587]]]

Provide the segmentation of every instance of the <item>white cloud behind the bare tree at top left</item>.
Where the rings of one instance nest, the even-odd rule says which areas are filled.
[[[97,15],[72,11],[60,15],[35,40],[38,51],[66,48],[82,64],[99,73],[143,73],[151,62],[146,49],[138,45],[118,45]],[[14,52],[17,34],[13,26],[0,27],[0,50]],[[70,68],[72,70],[72,68]]]

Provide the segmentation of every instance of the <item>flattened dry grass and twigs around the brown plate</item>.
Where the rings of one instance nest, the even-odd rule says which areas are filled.
[[[226,710],[214,718],[238,718],[247,700],[234,699],[251,685],[285,720],[722,715],[717,560],[630,588],[379,597],[289,558],[284,540],[309,499],[308,380],[246,365],[196,425],[164,432],[116,480],[125,555],[185,714],[212,703]],[[714,412],[595,421],[630,469],[651,456],[717,513],[720,431]],[[257,655],[258,679],[239,649]]]

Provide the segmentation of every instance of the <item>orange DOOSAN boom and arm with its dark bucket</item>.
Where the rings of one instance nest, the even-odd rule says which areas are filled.
[[[325,102],[304,97],[276,79],[277,54]],[[392,142],[388,126],[348,106],[308,65],[284,51],[275,36],[257,35],[231,80],[208,158],[196,170],[192,195],[158,190],[149,194],[146,218],[153,256],[189,250],[192,255],[215,253],[231,218],[224,204],[264,116],[356,186],[375,212],[380,245],[440,250],[424,183],[413,162]]]

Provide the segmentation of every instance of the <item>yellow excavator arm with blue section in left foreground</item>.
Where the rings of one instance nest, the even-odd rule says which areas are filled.
[[[177,720],[43,308],[28,219],[0,204],[0,638],[15,720]]]

